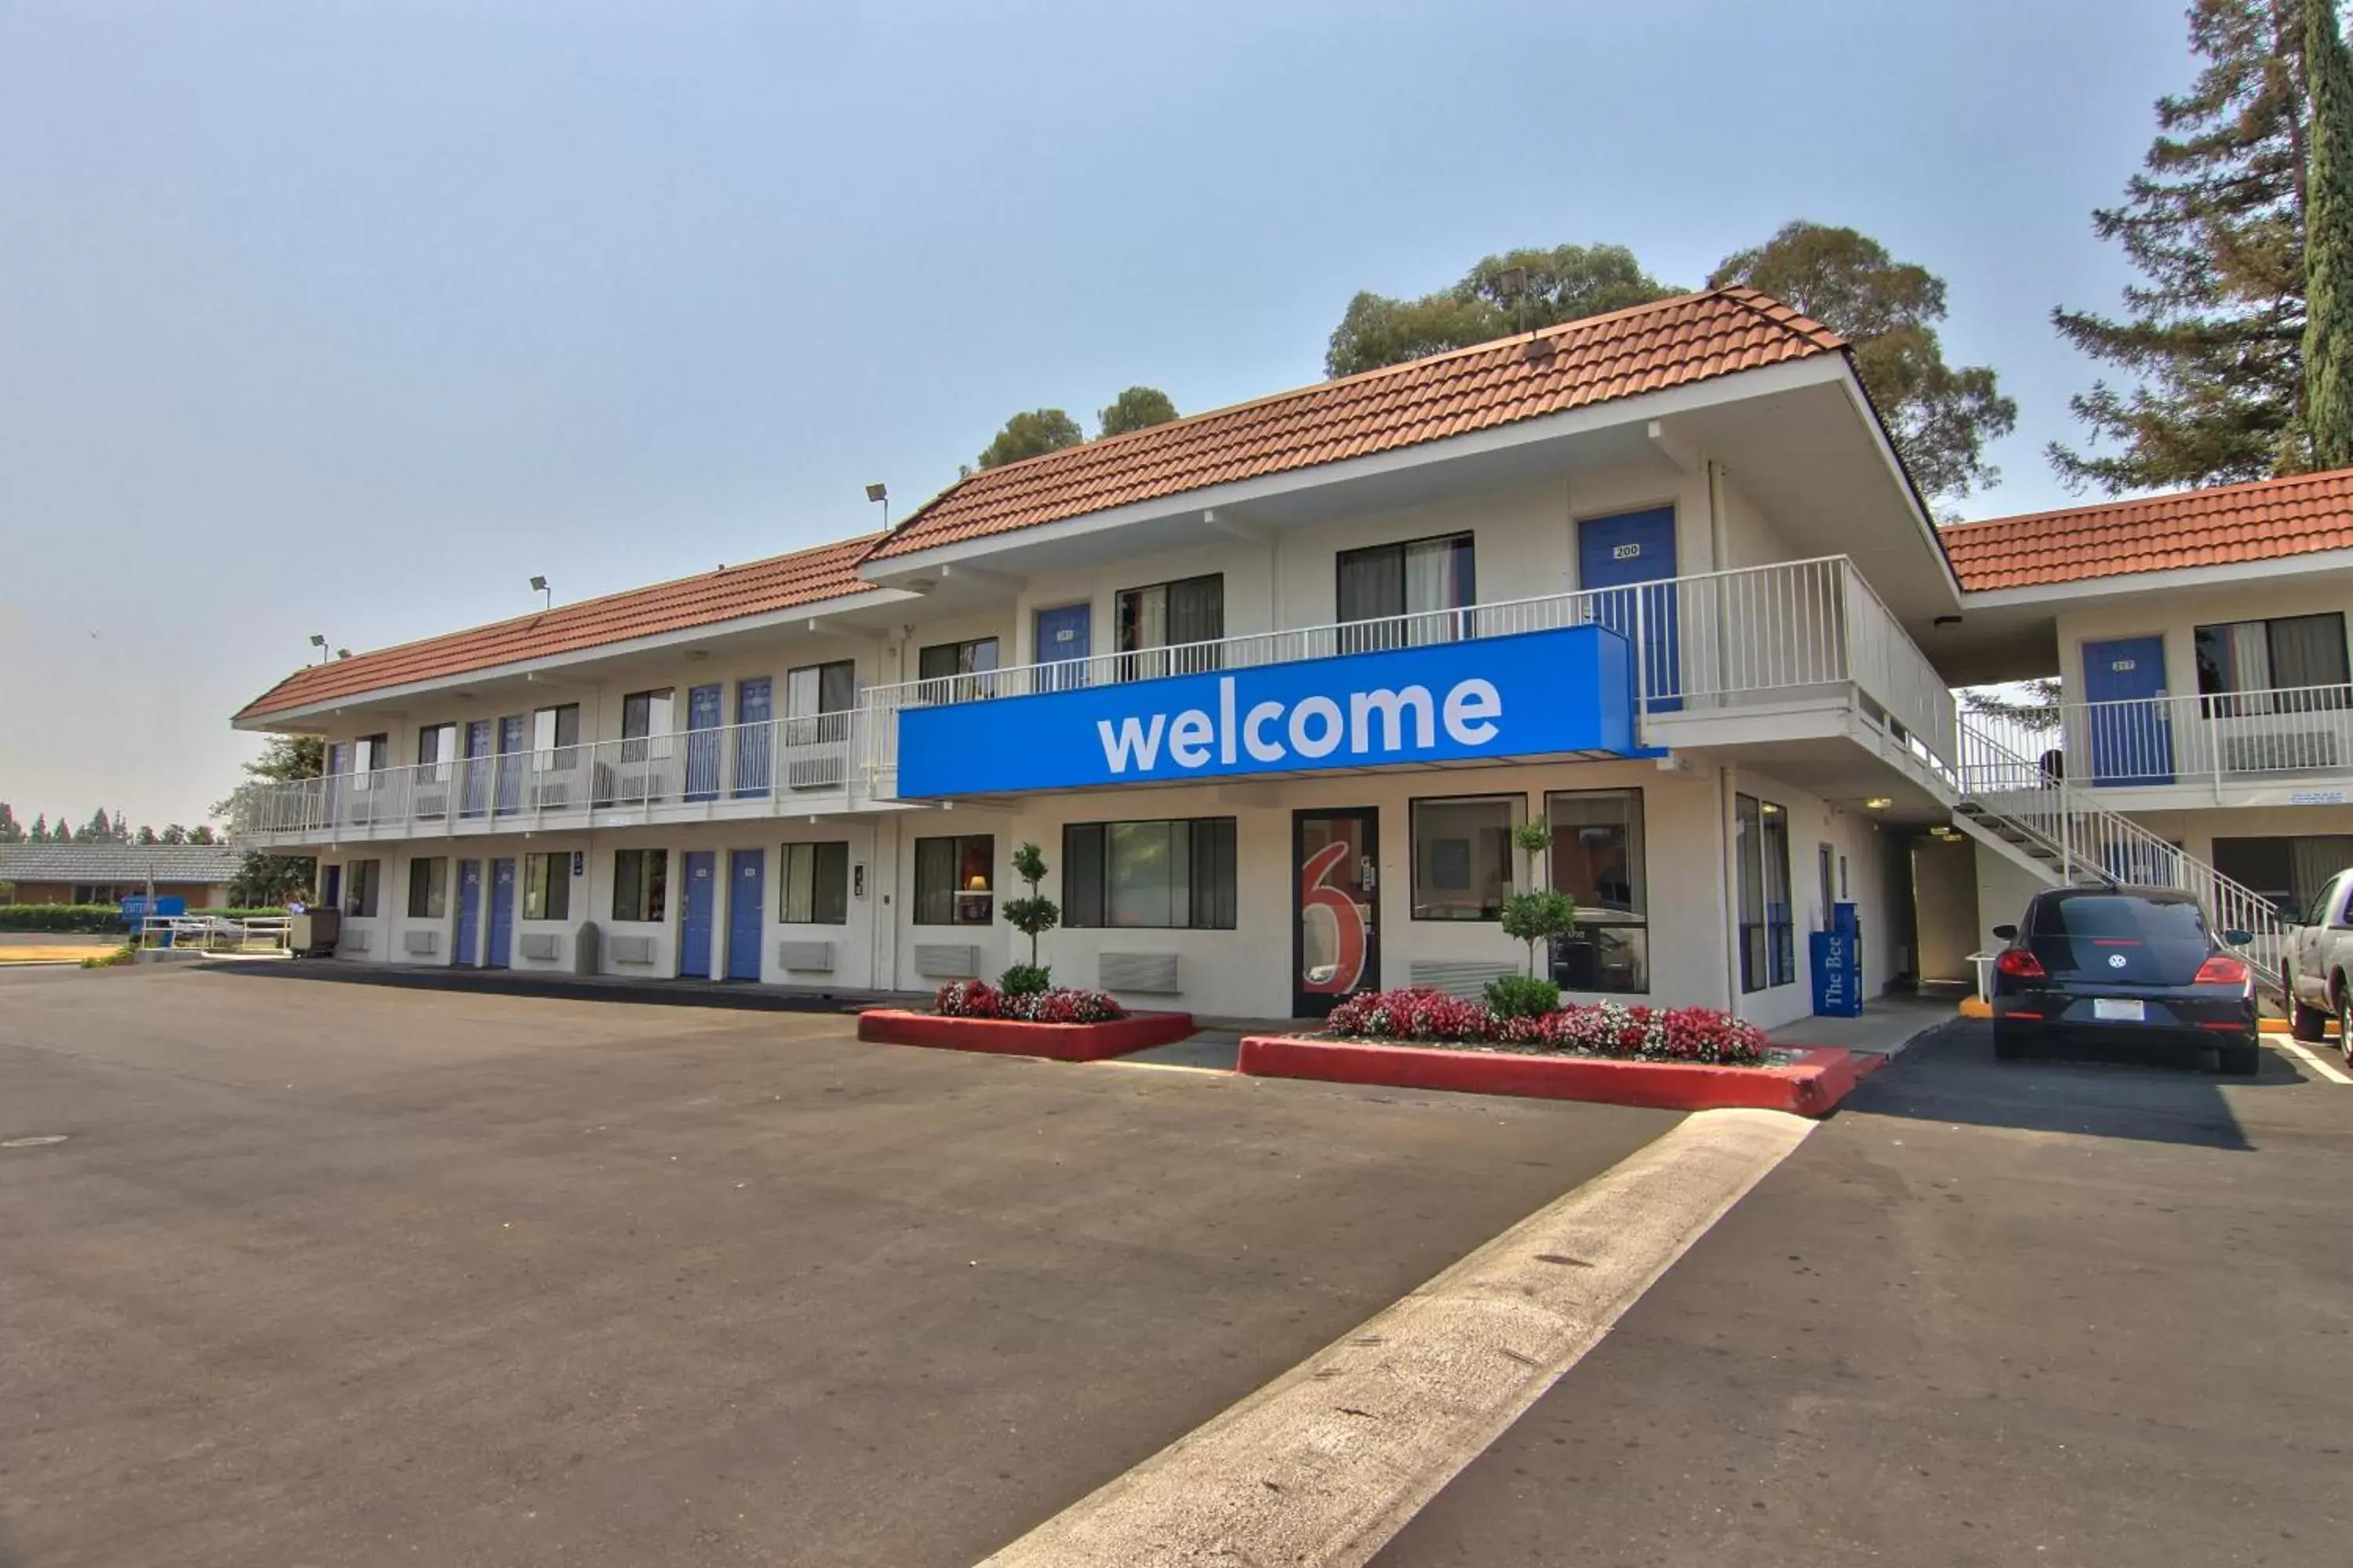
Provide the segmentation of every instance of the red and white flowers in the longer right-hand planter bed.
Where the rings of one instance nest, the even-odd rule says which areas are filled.
[[[1772,1060],[1765,1030],[1711,1006],[1591,1001],[1534,1018],[1497,1018],[1485,1001],[1421,987],[1348,997],[1332,1009],[1325,1037],[1722,1067]]]

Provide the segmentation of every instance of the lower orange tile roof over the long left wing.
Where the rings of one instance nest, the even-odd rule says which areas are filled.
[[[560,604],[536,616],[334,658],[285,677],[247,703],[238,719],[866,592],[873,583],[859,578],[859,559],[878,538],[880,534],[866,534],[765,562],[720,567],[675,583]]]

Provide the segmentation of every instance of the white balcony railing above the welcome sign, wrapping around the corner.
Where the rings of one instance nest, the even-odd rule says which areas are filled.
[[[859,764],[878,776],[896,769],[896,715],[906,708],[1595,623],[1631,646],[1638,724],[1854,689],[1913,757],[1953,778],[1953,693],[1842,555],[871,686]]]

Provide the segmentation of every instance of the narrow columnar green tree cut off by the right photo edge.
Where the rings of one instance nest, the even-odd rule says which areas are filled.
[[[2353,468],[2353,61],[2334,0],[2304,5],[2311,179],[2304,200],[2304,428],[2315,468]]]

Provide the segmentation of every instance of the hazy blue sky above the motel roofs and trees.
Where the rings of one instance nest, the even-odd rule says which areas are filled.
[[[1967,515],[2054,505],[2188,75],[2148,0],[0,7],[0,799],[198,820],[313,630],[856,534],[1511,244],[1854,223],[2019,402]]]

